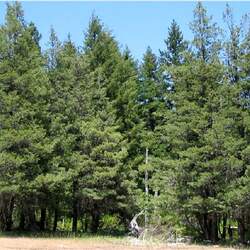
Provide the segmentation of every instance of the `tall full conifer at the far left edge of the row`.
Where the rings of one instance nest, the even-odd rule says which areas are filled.
[[[19,3],[7,5],[1,26],[1,195],[10,195],[7,221],[11,227],[13,204],[20,227],[34,228],[36,178],[47,171],[50,143],[46,138],[49,87],[33,24],[24,21]],[[3,212],[5,213],[5,212]],[[4,218],[1,217],[1,218]]]

